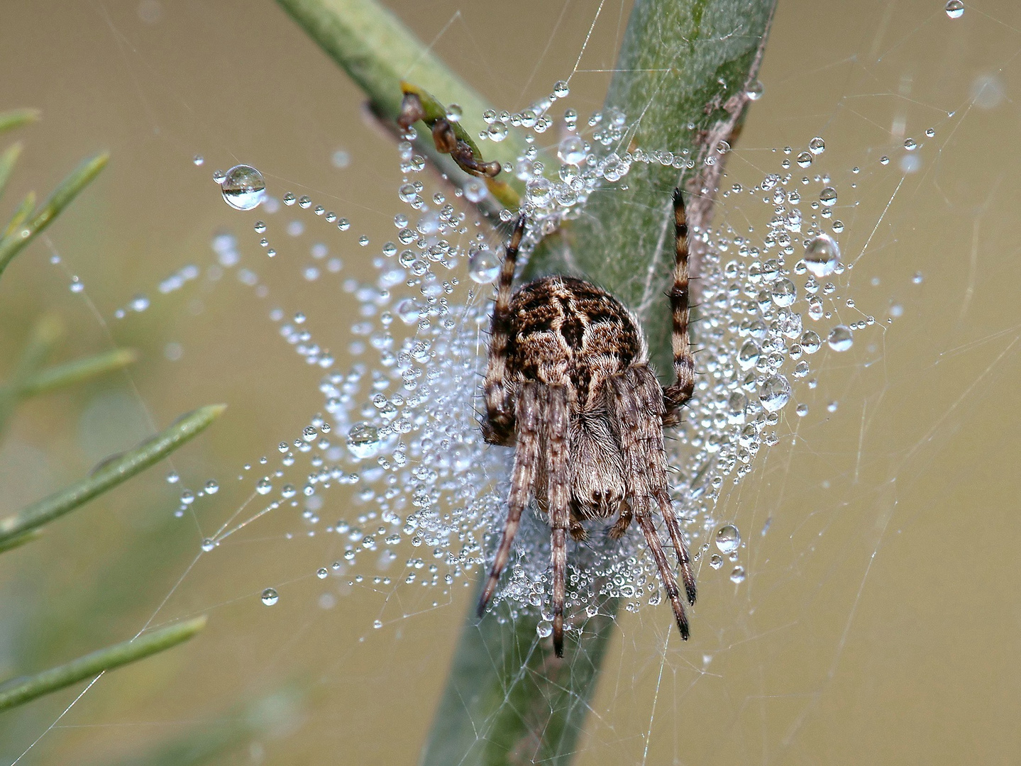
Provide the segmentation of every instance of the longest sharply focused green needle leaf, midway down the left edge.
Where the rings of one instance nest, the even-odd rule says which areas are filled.
[[[0,519],[0,545],[30,529],[49,523],[97,495],[128,480],[159,462],[198,436],[223,414],[226,405],[207,405],[180,417],[177,422],[134,450],[107,458],[93,472],[28,508]]]

